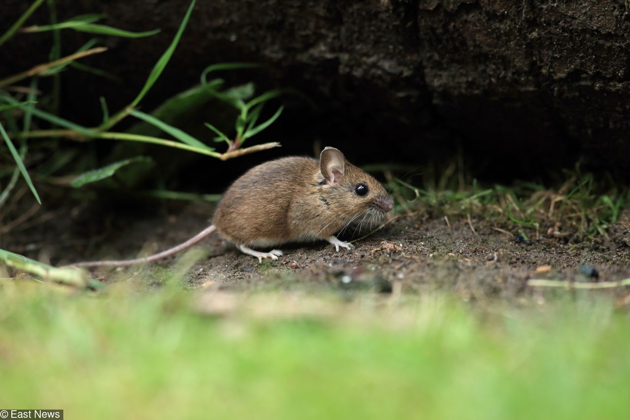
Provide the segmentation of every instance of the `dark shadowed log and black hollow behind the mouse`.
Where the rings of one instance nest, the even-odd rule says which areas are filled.
[[[151,38],[103,38],[110,50],[84,61],[117,74],[122,83],[64,74],[62,115],[90,125],[100,122],[99,96],[110,110],[134,98],[189,3],[55,4],[59,20],[106,13],[106,25],[162,30]],[[4,0],[0,28],[27,6]],[[157,146],[148,153],[171,166],[176,186],[225,185],[260,161],[312,155],[314,144],[336,146],[358,164],[420,167],[461,151],[473,175],[486,180],[547,177],[576,162],[627,176],[629,7],[610,0],[199,0],[143,110],[198,83],[205,66],[227,61],[265,64],[221,74],[230,83],[255,81],[258,92],[296,88],[315,107],[297,96],[272,104],[283,103],[285,113],[250,145],[280,141],[280,149],[210,163]],[[48,21],[42,7],[26,25]],[[0,77],[47,61],[51,37],[23,34],[5,44]],[[90,37],[64,30],[62,55]],[[106,155],[112,146],[100,147]]]

